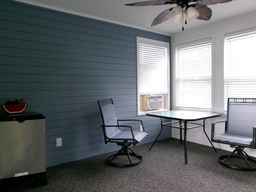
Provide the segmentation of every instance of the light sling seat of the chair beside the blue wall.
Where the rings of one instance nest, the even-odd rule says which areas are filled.
[[[145,136],[148,134],[144,131],[134,131],[134,139],[138,142],[140,142]],[[123,140],[132,140],[132,132],[130,131],[119,131],[116,134],[114,134],[110,139],[123,139]]]

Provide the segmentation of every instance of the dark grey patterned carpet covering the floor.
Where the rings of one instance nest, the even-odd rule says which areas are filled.
[[[256,192],[256,171],[239,171],[218,163],[224,150],[170,138],[132,148],[143,156],[134,167],[110,166],[103,154],[46,169],[48,184],[33,188],[32,178],[6,182],[6,192]],[[15,178],[16,179],[16,178]]]

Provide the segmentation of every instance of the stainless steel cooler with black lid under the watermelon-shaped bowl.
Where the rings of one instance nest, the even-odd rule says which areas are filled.
[[[37,186],[47,184],[44,116],[0,114],[0,180],[30,174]]]

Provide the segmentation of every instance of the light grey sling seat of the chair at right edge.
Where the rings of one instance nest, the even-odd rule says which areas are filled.
[[[215,135],[212,139],[224,142],[232,142],[236,144],[245,144],[250,146],[252,144],[253,137],[246,134],[235,134],[226,132],[223,134]]]

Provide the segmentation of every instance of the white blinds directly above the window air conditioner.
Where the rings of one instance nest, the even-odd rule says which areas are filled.
[[[140,94],[168,93],[168,48],[163,42],[139,40],[138,81]]]

